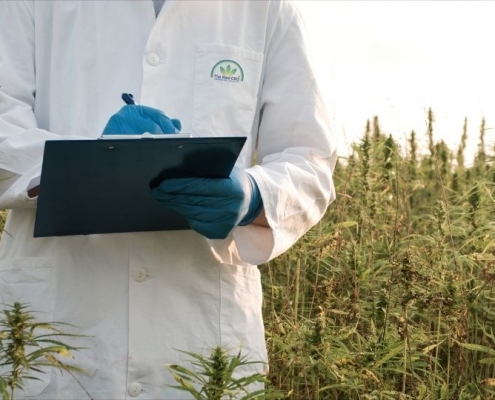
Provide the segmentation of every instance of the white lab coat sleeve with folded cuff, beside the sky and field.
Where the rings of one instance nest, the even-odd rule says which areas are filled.
[[[261,264],[289,249],[335,199],[337,155],[326,107],[308,54],[304,25],[295,11],[273,32],[260,91],[258,165],[250,168],[269,228],[234,230],[242,259]]]

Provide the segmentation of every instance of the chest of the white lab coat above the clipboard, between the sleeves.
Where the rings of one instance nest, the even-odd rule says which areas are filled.
[[[41,128],[97,137],[123,92],[197,135],[246,135],[250,159],[269,2],[37,1]]]

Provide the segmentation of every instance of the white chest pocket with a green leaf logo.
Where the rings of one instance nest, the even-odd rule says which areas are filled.
[[[263,53],[198,44],[193,132],[199,136],[249,135],[256,116]]]

